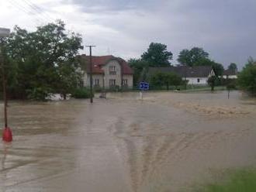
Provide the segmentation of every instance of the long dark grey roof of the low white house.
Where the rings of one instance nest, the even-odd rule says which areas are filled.
[[[178,74],[181,77],[209,77],[209,74],[213,70],[210,66],[170,66],[170,67],[150,67],[149,73],[155,72],[172,72]]]

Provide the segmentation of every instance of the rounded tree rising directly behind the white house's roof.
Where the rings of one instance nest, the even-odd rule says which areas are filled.
[[[189,67],[204,65],[209,53],[202,48],[193,47],[191,50],[182,50],[178,55],[178,62]]]

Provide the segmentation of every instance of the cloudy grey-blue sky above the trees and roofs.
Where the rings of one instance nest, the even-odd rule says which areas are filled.
[[[256,0],[0,0],[0,26],[28,30],[55,19],[95,55],[140,57],[151,42],[174,54],[202,47],[225,67],[256,58]],[[88,53],[83,50],[81,53]]]

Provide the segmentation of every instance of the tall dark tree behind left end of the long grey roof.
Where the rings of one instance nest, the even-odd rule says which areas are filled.
[[[150,67],[168,67],[171,65],[172,53],[164,44],[150,43],[147,51],[141,55],[141,60],[149,63]]]

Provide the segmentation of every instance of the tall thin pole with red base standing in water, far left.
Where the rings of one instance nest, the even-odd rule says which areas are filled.
[[[4,115],[5,115],[5,129],[2,133],[2,139],[5,142],[12,142],[12,130],[8,126],[7,121],[7,94],[6,94],[6,81],[5,81],[5,61],[2,53],[2,43],[4,40],[2,38],[8,37],[10,34],[10,29],[0,28],[0,57],[2,64],[2,90],[3,90],[3,98],[4,98]]]

